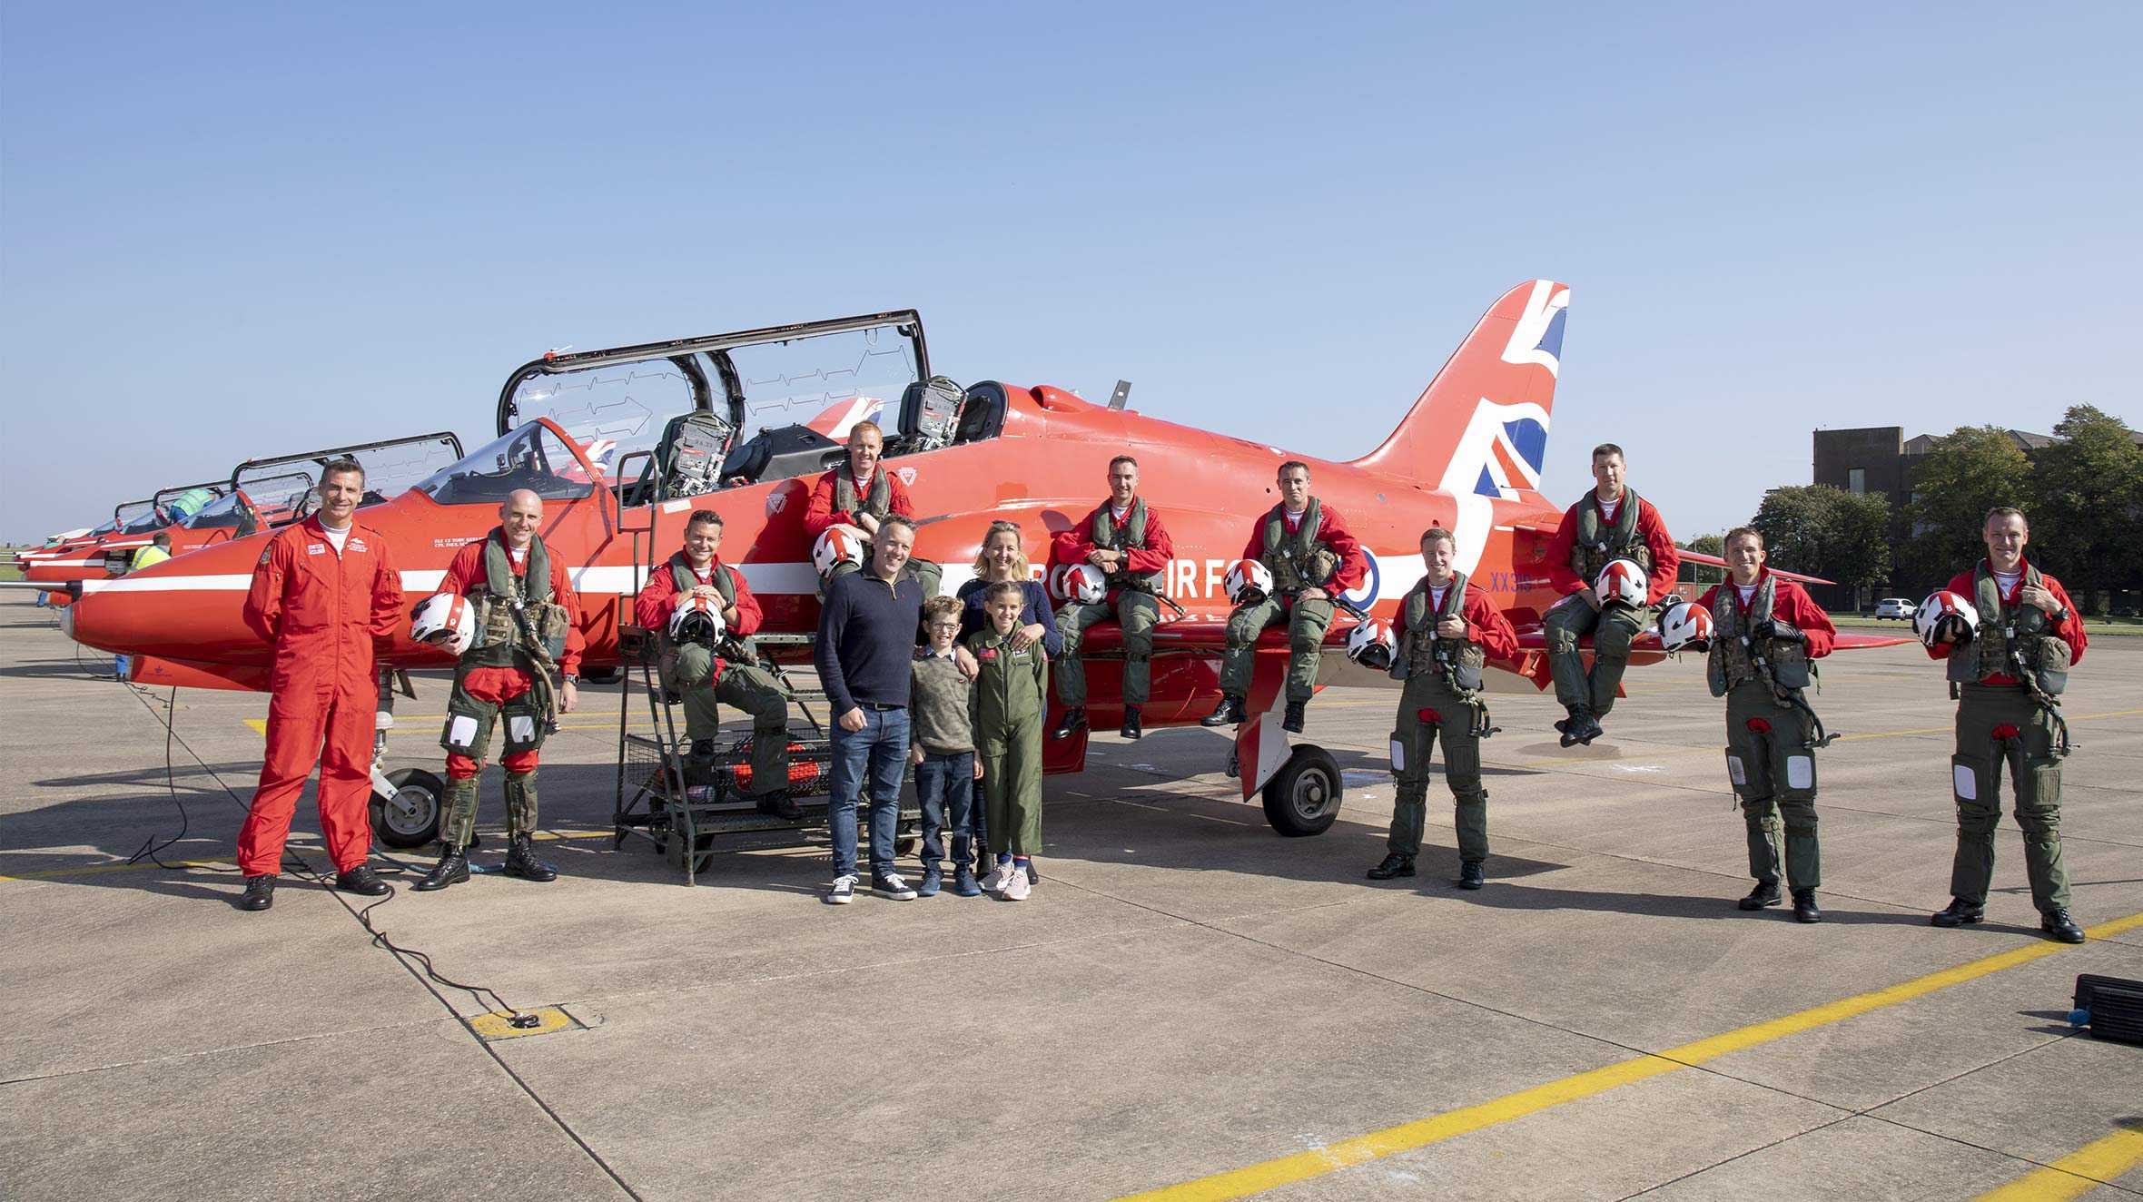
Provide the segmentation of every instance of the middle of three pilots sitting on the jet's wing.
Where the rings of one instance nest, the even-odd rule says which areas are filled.
[[[1234,606],[1228,615],[1228,651],[1219,671],[1219,705],[1200,720],[1228,726],[1249,718],[1249,675],[1258,634],[1288,623],[1288,713],[1282,726],[1303,731],[1303,707],[1318,690],[1318,649],[1333,623],[1333,598],[1361,587],[1369,561],[1361,542],[1346,531],[1339,510],[1309,495],[1309,465],[1297,459],[1279,465],[1279,504],[1258,519],[1243,546],[1273,574],[1271,596]]]

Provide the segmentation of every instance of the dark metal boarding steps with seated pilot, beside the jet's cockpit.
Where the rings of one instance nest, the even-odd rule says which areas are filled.
[[[688,761],[690,739],[677,718],[681,701],[662,681],[660,641],[643,626],[619,626],[617,656],[626,664],[626,681],[617,701],[617,803],[613,808],[611,846],[626,838],[649,840],[684,872],[686,885],[714,859],[720,836],[763,831],[810,831],[810,842],[825,838],[825,810],[834,784],[831,739],[814,705],[825,701],[816,688],[797,688],[771,653],[780,647],[810,647],[814,634],[761,634],[752,643],[763,651],[761,666],[780,683],[793,709],[804,711],[804,726],[789,726],[789,795],[804,806],[801,818],[765,814],[746,795],[752,778],[752,735],[716,739],[714,758],[705,765]],[[632,694],[645,698],[649,728],[632,728]],[[902,806],[896,855],[915,851],[919,810],[909,803],[902,776]],[[861,814],[857,814],[861,821]]]

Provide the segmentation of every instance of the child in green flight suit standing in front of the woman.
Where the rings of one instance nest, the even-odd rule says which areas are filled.
[[[1039,643],[1014,647],[1026,591],[999,581],[981,596],[990,626],[966,636],[975,656],[969,724],[981,758],[984,829],[996,866],[981,878],[986,893],[1024,902],[1033,859],[1041,853],[1041,718],[1050,705],[1050,658]]]

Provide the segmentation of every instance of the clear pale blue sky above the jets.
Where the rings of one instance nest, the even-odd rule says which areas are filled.
[[[1678,536],[1815,426],[2143,418],[2143,9],[1624,9],[15,0],[0,536],[894,306],[962,381],[1352,456],[1556,276],[1547,491],[1620,441]]]

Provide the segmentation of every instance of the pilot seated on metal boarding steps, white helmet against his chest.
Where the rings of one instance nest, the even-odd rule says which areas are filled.
[[[714,763],[720,707],[733,705],[752,720],[752,780],[748,797],[761,814],[801,818],[804,808],[789,795],[789,694],[759,666],[752,634],[763,615],[744,572],[722,564],[722,514],[692,510],[684,525],[684,546],[671,555],[632,602],[634,619],[656,632],[666,662],[664,675],[684,694],[684,731],[692,741],[688,765]],[[703,596],[722,606],[722,641],[675,643],[669,632],[677,602]]]

